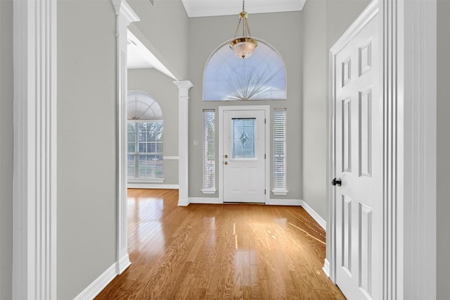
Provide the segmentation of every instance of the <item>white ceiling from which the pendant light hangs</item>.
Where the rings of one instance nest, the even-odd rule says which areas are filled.
[[[238,15],[241,0],[181,0],[190,18],[214,15]],[[279,13],[301,11],[306,0],[247,0],[245,11],[252,13]]]

